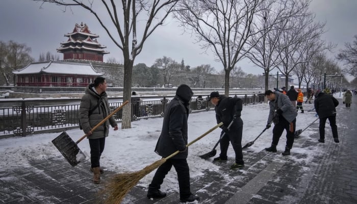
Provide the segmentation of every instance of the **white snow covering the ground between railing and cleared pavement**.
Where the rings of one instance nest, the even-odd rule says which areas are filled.
[[[339,93],[335,94],[336,97],[338,97],[338,95]],[[313,109],[313,104],[303,104],[303,107],[305,113],[298,113],[296,130],[304,129],[316,119],[315,111],[308,112]],[[269,105],[267,103],[243,107],[242,119],[244,126],[242,146],[253,141],[264,130],[267,123],[268,113]],[[162,122],[163,118],[148,118],[132,122],[132,129],[119,129],[118,131],[113,131],[113,129],[111,129],[109,137],[106,139],[105,150],[100,159],[101,166],[118,173],[130,172],[141,170],[145,166],[160,160],[161,157],[155,154],[154,149],[160,136]],[[215,125],[216,119],[214,111],[190,114],[188,118],[189,142],[207,132]],[[310,127],[303,132],[301,137],[303,137],[304,140],[315,141],[316,138],[312,138],[310,135],[316,134],[317,132],[318,129]],[[68,130],[67,134],[73,141],[77,141],[84,135],[83,131],[80,129]],[[29,166],[29,160],[61,156],[58,149],[51,142],[58,135],[60,135],[60,133],[46,133],[30,135],[27,137],[1,139],[0,168],[3,170],[14,169],[18,166]],[[220,172],[219,167],[212,163],[213,158],[203,160],[197,157],[210,152],[218,141],[219,136],[220,130],[216,129],[189,147],[189,156],[187,160],[190,166],[191,177],[202,175],[203,170]],[[265,131],[251,147],[245,149],[243,151],[243,157],[244,152],[247,150],[259,152],[265,147],[268,147],[271,144],[271,139],[272,128]],[[285,144],[286,137],[284,132],[277,149],[283,150]],[[81,141],[78,146],[85,155],[89,155],[90,148],[87,140]],[[294,143],[292,155],[289,156],[289,159],[294,160],[296,163],[307,163],[312,160],[314,155],[318,155],[322,152],[320,148],[321,147],[319,146],[315,146],[314,148],[301,148],[298,143]],[[219,146],[216,149],[218,155],[220,152]],[[304,154],[306,157],[297,158],[294,157],[294,153]],[[234,158],[234,151],[231,145],[228,148],[228,157]],[[90,161],[89,157],[87,157],[86,160]],[[276,160],[284,160],[284,157],[277,154]],[[308,171],[309,169],[306,170]],[[151,182],[154,173],[155,170],[146,175],[138,185],[147,187]],[[239,179],[239,177],[236,179]],[[162,189],[167,192],[177,192],[178,188],[176,172],[172,169],[166,176]]]

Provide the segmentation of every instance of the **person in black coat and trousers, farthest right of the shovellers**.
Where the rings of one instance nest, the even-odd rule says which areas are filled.
[[[334,141],[339,143],[339,136],[337,133],[337,125],[336,125],[336,107],[339,105],[339,101],[330,94],[325,94],[320,92],[319,90],[316,91],[314,100],[314,106],[317,115],[320,118],[319,124],[319,133],[320,139],[319,142],[325,142],[325,123],[328,118],[330,122],[332,135],[334,137]]]

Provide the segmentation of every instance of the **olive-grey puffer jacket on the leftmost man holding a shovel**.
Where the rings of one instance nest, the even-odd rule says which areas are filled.
[[[97,106],[98,105],[98,106]],[[89,113],[91,111],[91,113]],[[93,84],[86,87],[85,94],[82,96],[80,105],[80,123],[84,133],[89,131],[98,124],[101,120],[106,118],[110,114],[109,101],[107,93],[103,92],[98,95],[93,90]],[[114,117],[110,117],[102,125],[98,126],[88,139],[97,139],[108,137],[109,124],[114,127],[117,125]]]

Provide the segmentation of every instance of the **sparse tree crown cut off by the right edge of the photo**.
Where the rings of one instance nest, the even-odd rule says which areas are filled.
[[[346,71],[357,77],[357,35],[354,36],[353,43],[346,42],[345,49],[341,49],[337,59],[342,60],[347,65]]]

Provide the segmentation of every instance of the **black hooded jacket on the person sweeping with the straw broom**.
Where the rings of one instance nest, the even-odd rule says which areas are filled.
[[[189,86],[180,85],[176,90],[176,95],[167,105],[161,134],[155,147],[155,152],[161,157],[168,157],[179,150],[183,152],[175,155],[172,159],[187,158],[187,119],[192,95],[193,92]]]

